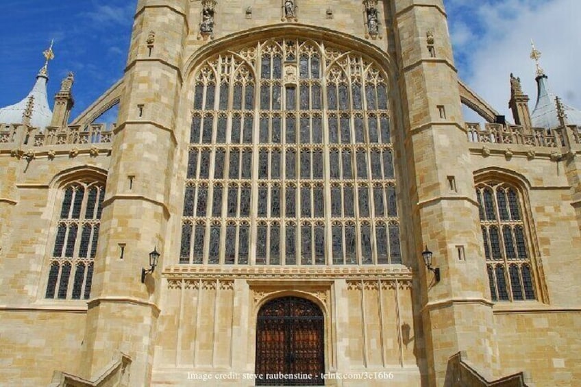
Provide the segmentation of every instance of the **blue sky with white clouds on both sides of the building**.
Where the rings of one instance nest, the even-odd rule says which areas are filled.
[[[543,51],[552,90],[581,108],[580,0],[444,3],[460,78],[497,110],[509,116],[511,72],[521,77],[534,108],[531,38]],[[61,79],[73,71],[73,117],[123,76],[136,0],[2,0],[2,4],[0,106],[21,100],[32,88],[51,38],[55,60],[49,65],[49,102],[52,105]]]

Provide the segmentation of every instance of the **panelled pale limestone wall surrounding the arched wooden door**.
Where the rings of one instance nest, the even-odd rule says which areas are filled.
[[[152,384],[187,380],[203,386],[197,380],[203,375],[215,382],[230,374],[235,377],[217,385],[249,385],[245,377],[255,372],[260,305],[286,295],[321,305],[327,385],[419,384],[408,282],[305,279],[170,279],[163,290]]]

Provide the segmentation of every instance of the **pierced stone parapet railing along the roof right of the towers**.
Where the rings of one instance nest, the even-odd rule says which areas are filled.
[[[581,143],[579,128],[576,126],[549,130],[535,127],[532,132],[525,131],[521,126],[496,123],[486,123],[484,129],[479,123],[467,123],[466,128],[469,142],[560,148],[567,144],[567,132],[569,132],[573,142]]]

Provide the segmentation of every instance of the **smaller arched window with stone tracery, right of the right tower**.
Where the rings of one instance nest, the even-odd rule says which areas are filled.
[[[536,299],[521,192],[510,184],[486,182],[476,186],[476,197],[493,301]]]

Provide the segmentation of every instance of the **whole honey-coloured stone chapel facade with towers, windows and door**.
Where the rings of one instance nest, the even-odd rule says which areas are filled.
[[[580,132],[512,80],[441,0],[139,0],[123,79],[0,128],[0,380],[572,385]]]

